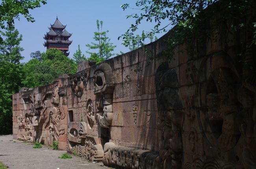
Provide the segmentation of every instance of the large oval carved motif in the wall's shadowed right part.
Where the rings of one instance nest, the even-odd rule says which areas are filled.
[[[238,78],[228,67],[211,71],[201,90],[200,120],[211,145],[219,151],[230,151],[241,135],[236,124]],[[202,85],[203,86],[203,85]]]

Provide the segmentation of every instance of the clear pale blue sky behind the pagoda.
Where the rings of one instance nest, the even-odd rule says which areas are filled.
[[[93,42],[97,19],[103,21],[103,31],[109,30],[108,36],[111,42],[117,45],[114,52],[128,52],[129,49],[121,44],[122,40],[117,38],[132,24],[133,19],[126,19],[126,16],[138,11],[133,9],[123,11],[120,6],[124,3],[135,4],[135,0],[48,0],[46,5],[30,11],[35,22],[27,22],[24,17],[15,20],[15,28],[23,36],[22,62],[30,60],[31,52],[46,51],[46,47],[43,46],[43,36],[49,31],[48,27],[55,22],[57,15],[61,24],[67,24],[66,30],[72,33],[70,40],[73,42],[69,46],[70,58],[78,49],[78,44],[85,56],[89,57],[89,54],[85,53],[87,50],[85,44]],[[139,31],[147,31],[149,28],[150,24],[143,23]],[[162,35],[158,35],[158,38]]]

